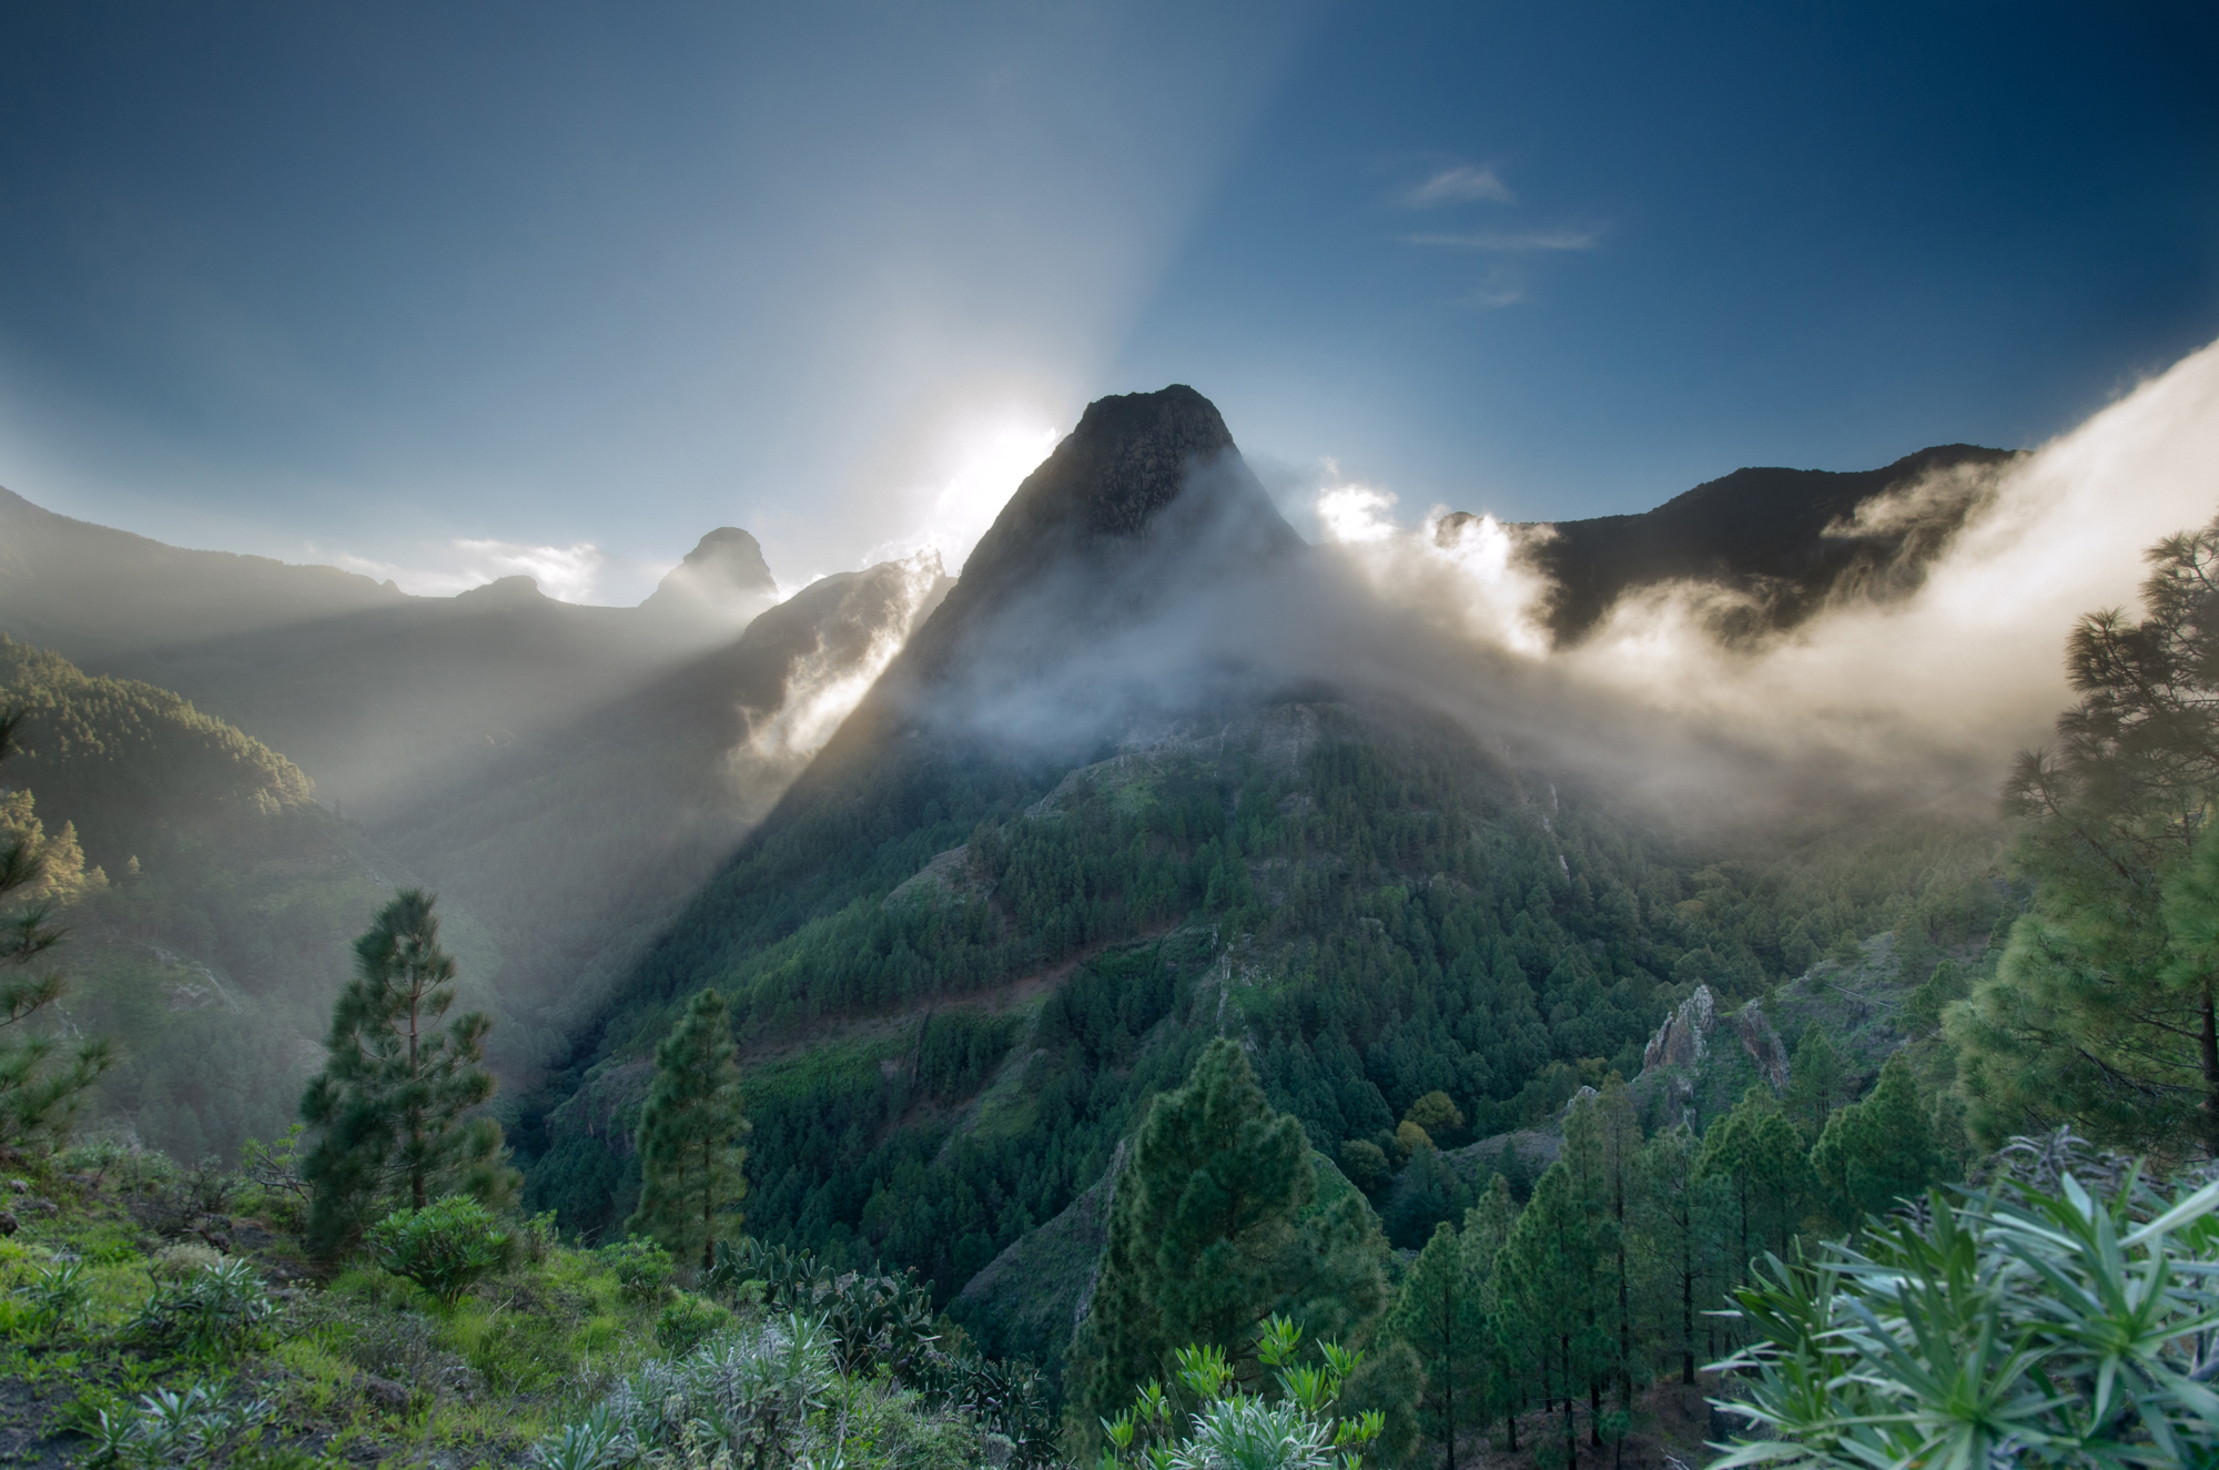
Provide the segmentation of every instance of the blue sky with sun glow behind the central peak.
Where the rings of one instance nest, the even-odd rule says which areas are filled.
[[[1303,524],[2037,444],[2219,338],[2212,4],[11,4],[0,484],[637,602],[1192,382]],[[1307,528],[1307,526],[1305,526]]]

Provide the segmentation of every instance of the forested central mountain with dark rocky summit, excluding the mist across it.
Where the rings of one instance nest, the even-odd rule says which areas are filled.
[[[1695,850],[1345,675],[1169,646],[1147,699],[1074,699],[1045,737],[981,719],[1012,688],[1067,699],[1105,622],[1178,586],[1307,575],[1207,402],[1107,402],[533,1099],[537,1208],[624,1219],[644,1057],[710,984],[748,1048],[750,1230],[948,1299],[1094,1186],[1214,1035],[1338,1159],[1427,1093],[1458,1144],[1633,1077],[1702,984],[1749,999],[1899,924],[1986,937],[1984,828]],[[1207,506],[1152,477],[1167,460]]]

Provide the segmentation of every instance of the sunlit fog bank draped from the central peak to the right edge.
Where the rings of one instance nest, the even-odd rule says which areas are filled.
[[[1196,466],[1141,544],[1030,568],[928,717],[1041,751],[1192,735],[1229,704],[1331,688],[1445,713],[1489,748],[1584,773],[1680,822],[1826,802],[1990,813],[2010,755],[2068,702],[2073,622],[2132,604],[2144,551],[2219,511],[2219,346],[1995,471],[1860,506],[1871,531],[1966,506],[1908,593],[1851,588],[1793,631],[1718,637],[1742,593],[1633,588],[1551,646],[1547,526],[1394,520],[1387,486],[1329,484],[1320,546],[1285,555],[1238,457]],[[1283,522],[1280,531],[1285,531]],[[1291,537],[1291,531],[1287,533]],[[1924,571],[1924,577],[1919,577]],[[854,682],[839,697],[861,697]],[[828,686],[805,728],[830,733]],[[794,728],[803,728],[801,722]]]

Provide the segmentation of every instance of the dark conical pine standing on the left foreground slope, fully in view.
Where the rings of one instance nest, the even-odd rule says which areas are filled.
[[[331,1252],[379,1210],[422,1210],[468,1192],[486,1204],[515,1197],[501,1126],[470,1110],[493,1097],[484,1068],[484,1013],[442,1026],[455,1004],[455,961],[439,948],[433,897],[404,888],[355,939],[355,979],[340,993],[324,1039],[328,1061],[300,1101],[317,1128],[302,1159],[315,1190],[308,1244]]]

